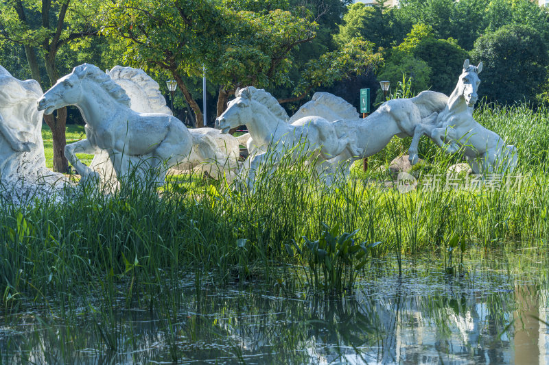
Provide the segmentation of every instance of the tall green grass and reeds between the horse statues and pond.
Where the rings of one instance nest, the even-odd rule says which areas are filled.
[[[8,311],[27,301],[67,308],[82,292],[93,292],[108,304],[98,310],[105,316],[120,295],[130,306],[173,312],[159,297],[176,305],[178,293],[169,283],[182,273],[193,273],[197,288],[205,273],[220,283],[274,282],[279,275],[274,268],[305,263],[286,246],[320,237],[323,224],[358,230],[356,241],[382,242],[370,255],[399,260],[423,250],[443,257],[454,236],[466,237],[467,247],[545,245],[548,110],[484,106],[476,118],[517,146],[519,166],[513,175],[522,176],[519,186],[419,187],[402,194],[380,182],[388,177],[372,169],[360,179],[354,175],[326,187],[310,165],[288,159],[259,174],[255,192],[249,194],[224,181],[189,177],[172,181],[161,193],[134,184],[114,193],[75,190],[62,203],[47,197],[25,206],[1,201],[1,303]],[[395,143],[382,155],[390,155]],[[445,178],[449,164],[459,160],[427,140],[422,140],[421,153],[425,164],[414,171],[420,185],[426,175]],[[115,289],[121,284],[123,294]],[[115,340],[103,337],[116,347]]]

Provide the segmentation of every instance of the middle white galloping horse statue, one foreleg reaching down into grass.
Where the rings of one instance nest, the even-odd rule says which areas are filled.
[[[325,160],[334,158],[344,150],[351,155],[362,153],[353,147],[356,143],[347,136],[346,131],[338,128],[319,116],[306,116],[288,124],[288,114],[272,95],[262,89],[249,86],[239,90],[236,99],[229,102],[225,112],[216,119],[222,133],[231,128],[246,125],[252,140],[258,146],[270,146],[274,152],[272,158],[276,163],[284,149],[292,149],[303,143],[303,149],[294,150],[293,158],[305,154],[308,160],[314,160],[317,168]],[[248,141],[248,145],[249,145]],[[259,166],[266,163],[270,156],[263,150],[250,155],[248,188],[253,188],[253,181]]]

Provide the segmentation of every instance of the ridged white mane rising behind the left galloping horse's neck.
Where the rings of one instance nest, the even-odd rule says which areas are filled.
[[[160,92],[159,84],[141,68],[115,66],[106,74],[126,91],[132,101],[132,110],[173,115]]]

